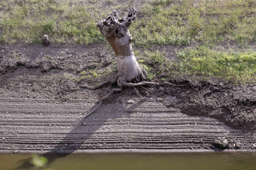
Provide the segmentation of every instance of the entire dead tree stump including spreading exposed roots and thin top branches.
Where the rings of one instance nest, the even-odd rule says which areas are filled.
[[[106,80],[100,85],[94,87],[80,86],[81,88],[95,90],[97,88],[103,87],[108,83],[117,82],[118,84],[118,88],[110,90],[110,93],[108,93],[105,97],[101,98],[101,100],[99,101],[99,105],[94,108],[90,113],[85,115],[85,117],[90,115],[98,107],[100,107],[100,105],[102,104],[102,100],[106,99],[114,92],[122,91],[124,87],[133,87],[138,94],[138,90],[135,87],[142,85],[188,86],[175,85],[168,82],[156,83],[147,81],[147,72],[140,64],[137,63],[135,55],[133,53],[131,46],[132,36],[130,35],[128,29],[132,21],[136,18],[136,13],[140,6],[140,0],[138,2],[137,8],[135,9],[132,6],[125,17],[119,18],[118,12],[114,9],[112,10],[112,13],[107,17],[107,19],[103,19],[101,21],[93,17],[91,12],[86,8],[85,3],[84,6],[85,9],[90,13],[92,18],[97,22],[96,26],[99,27],[100,32],[106,37],[109,44],[113,48],[116,56],[118,70],[118,73],[114,76],[114,78],[112,78],[111,80]],[[138,95],[140,96],[140,94]],[[80,125],[82,124],[84,118],[82,119]]]

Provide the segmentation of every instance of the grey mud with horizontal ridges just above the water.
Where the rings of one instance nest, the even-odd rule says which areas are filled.
[[[213,118],[182,114],[157,99],[133,100],[134,104],[104,105],[76,127],[94,103],[1,98],[0,152],[214,149],[217,138],[226,138],[231,149],[234,143],[253,149],[255,133],[244,134]]]

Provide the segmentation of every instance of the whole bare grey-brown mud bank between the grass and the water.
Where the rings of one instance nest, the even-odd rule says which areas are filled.
[[[255,150],[255,84],[163,87],[171,95],[138,87],[142,98],[126,88],[77,127],[110,89],[82,89],[95,82],[76,79],[113,64],[105,46],[1,45],[0,152],[210,151],[221,138],[230,143],[227,150],[236,143]]]

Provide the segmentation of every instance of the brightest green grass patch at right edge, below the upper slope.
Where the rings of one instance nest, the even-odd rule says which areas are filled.
[[[256,82],[256,52],[223,53],[199,47],[180,51],[177,57],[180,59],[177,70],[187,77],[224,79],[234,84]]]

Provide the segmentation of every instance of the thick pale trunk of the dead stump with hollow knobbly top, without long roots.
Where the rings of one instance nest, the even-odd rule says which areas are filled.
[[[119,19],[118,12],[113,10],[106,20],[97,24],[115,52],[118,74],[112,81],[117,81],[120,88],[129,86],[126,82],[138,83],[147,78],[146,70],[137,63],[134,56],[132,36],[128,29],[136,18],[136,12],[137,10],[131,7],[127,15]]]

